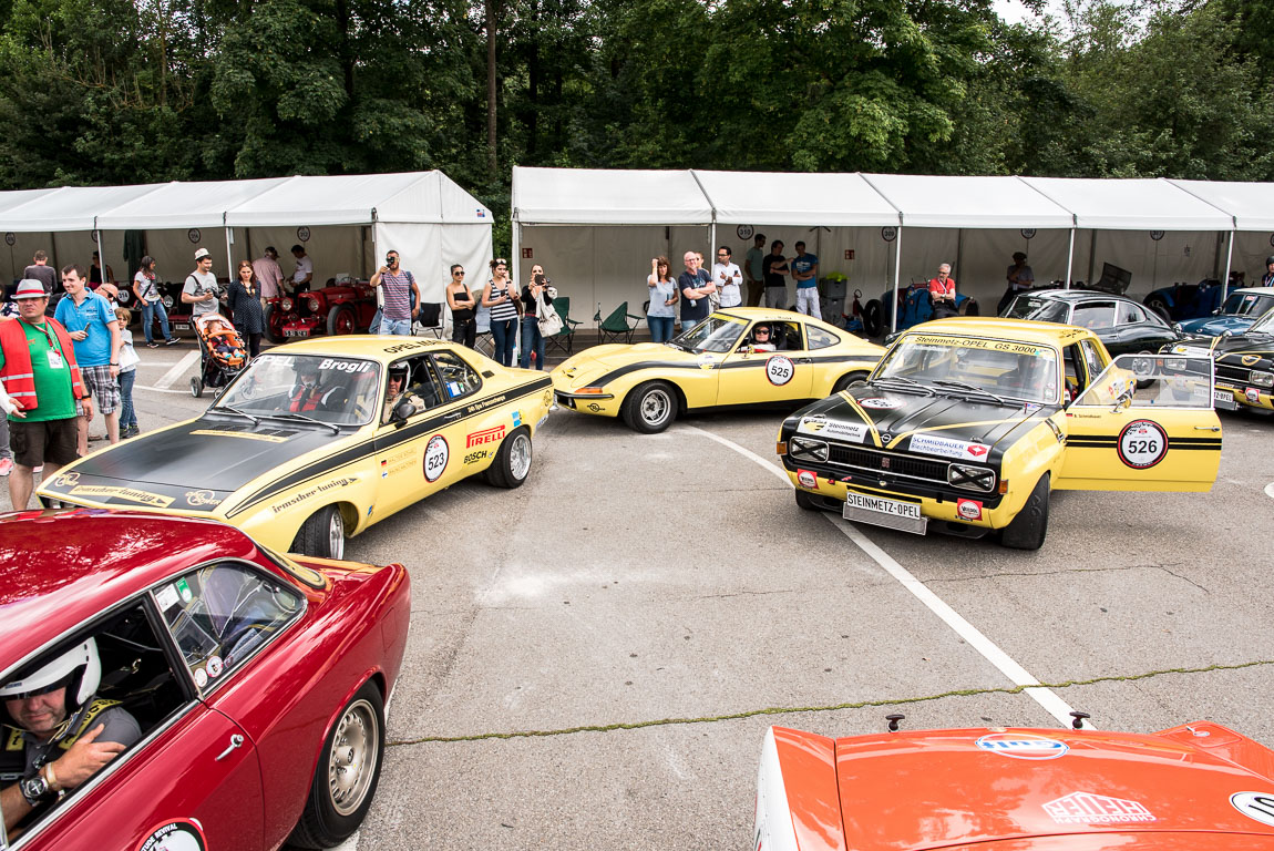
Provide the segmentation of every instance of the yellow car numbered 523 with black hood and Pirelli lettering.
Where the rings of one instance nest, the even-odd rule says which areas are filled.
[[[404,371],[408,404],[387,404]],[[83,457],[38,493],[214,517],[273,549],[341,558],[347,535],[466,476],[522,484],[552,405],[543,373],[448,341],[303,340],[255,359],[197,419]]]

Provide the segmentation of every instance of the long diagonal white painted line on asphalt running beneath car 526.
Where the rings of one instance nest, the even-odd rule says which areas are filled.
[[[703,437],[707,437],[708,440],[716,441],[721,446],[734,450],[739,455],[743,455],[744,457],[759,464],[766,470],[769,470],[780,479],[782,479],[784,484],[791,487],[791,479],[787,478],[786,471],[784,471],[775,464],[767,461],[766,459],[761,457],[752,450],[744,448],[743,446],[739,446],[734,441],[720,437],[719,434],[713,434],[712,432],[706,432],[702,428],[696,428],[694,426],[683,424],[682,428],[693,431],[698,434],[702,434]],[[1269,493],[1271,488],[1274,488],[1274,483],[1271,483],[1270,487],[1265,489],[1266,493]],[[995,668],[999,669],[999,671],[1004,674],[1009,679],[1009,682],[1012,682],[1014,685],[1027,687],[1026,689],[1023,689],[1026,694],[1028,694],[1032,699],[1034,699],[1040,706],[1045,708],[1046,712],[1049,712],[1049,715],[1057,719],[1057,721],[1061,722],[1064,726],[1070,726],[1071,707],[1065,701],[1057,697],[1051,689],[1040,687],[1040,680],[1032,676],[1024,668],[1022,668],[1022,665],[1018,665],[1015,661],[1013,661],[1013,659],[1006,652],[1000,650],[995,645],[995,642],[992,642],[990,638],[982,634],[982,632],[977,627],[975,627],[963,617],[961,617],[961,614],[956,611],[956,609],[950,608],[945,601],[943,601],[941,597],[930,591],[924,582],[912,576],[907,568],[896,562],[892,555],[880,549],[880,547],[878,547],[871,539],[869,539],[857,527],[855,527],[854,524],[842,520],[841,517],[836,517],[834,515],[826,515],[826,517],[828,522],[840,529],[841,533],[851,541],[854,541],[854,544],[859,549],[861,549],[871,561],[879,564],[885,573],[897,580],[898,583],[902,585],[902,587],[907,589],[907,591],[912,594],[912,596],[924,603],[930,611],[941,618],[943,623],[945,623],[956,632],[956,634],[963,638],[970,647],[980,652],[984,659],[995,665]],[[1037,687],[1037,688],[1031,688],[1031,687]],[[1088,721],[1084,721],[1084,727],[1088,730],[1096,729]]]

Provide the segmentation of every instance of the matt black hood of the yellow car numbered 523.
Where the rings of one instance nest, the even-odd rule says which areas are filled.
[[[236,490],[318,450],[330,428],[205,414],[134,437],[69,466],[42,493],[111,506],[213,512]]]

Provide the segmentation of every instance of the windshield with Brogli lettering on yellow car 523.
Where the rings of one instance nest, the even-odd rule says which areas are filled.
[[[262,354],[210,410],[261,418],[310,418],[333,426],[371,420],[381,366],[320,354]]]

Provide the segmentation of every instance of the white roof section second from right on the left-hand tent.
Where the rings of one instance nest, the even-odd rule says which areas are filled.
[[[225,210],[287,182],[288,177],[269,180],[232,180],[204,183],[164,183],[155,191],[101,211],[97,227],[103,231],[219,228]]]

